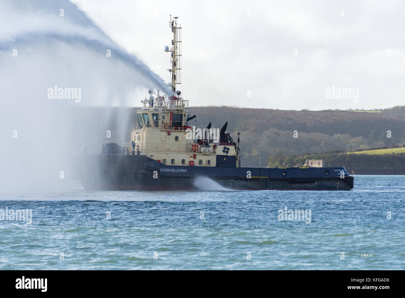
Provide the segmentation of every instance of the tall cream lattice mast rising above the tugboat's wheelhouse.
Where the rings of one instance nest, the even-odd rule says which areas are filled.
[[[173,40],[172,40],[172,47],[169,49],[168,46],[165,47],[164,51],[165,52],[171,52],[171,64],[172,68],[168,69],[169,73],[172,75],[172,91],[177,94],[177,96],[180,95],[179,91],[176,91],[176,85],[181,84],[180,82],[180,77],[181,77],[181,27],[180,25],[177,25],[177,18],[178,17],[173,17],[170,15],[170,22],[169,22],[169,27],[172,29],[173,32]]]

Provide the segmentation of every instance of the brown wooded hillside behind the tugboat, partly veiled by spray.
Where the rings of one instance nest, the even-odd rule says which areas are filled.
[[[105,132],[112,132],[112,142],[129,141],[132,122],[138,108],[75,108],[80,146],[85,144],[97,152]],[[239,107],[190,107],[196,115],[190,125],[203,128],[209,122],[221,128],[228,121],[227,131],[237,139],[241,133],[243,166],[267,166],[277,154],[347,152],[369,148],[403,146],[405,141],[405,106],[379,112],[293,111],[247,109]],[[294,138],[294,131],[298,134]],[[391,131],[391,138],[387,137]],[[88,144],[90,143],[90,144]]]

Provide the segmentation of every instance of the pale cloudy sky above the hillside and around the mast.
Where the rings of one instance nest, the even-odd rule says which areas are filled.
[[[179,17],[181,91],[192,106],[376,109],[404,102],[405,2],[72,2],[166,82],[168,21]],[[328,98],[327,88],[354,88],[357,96]]]

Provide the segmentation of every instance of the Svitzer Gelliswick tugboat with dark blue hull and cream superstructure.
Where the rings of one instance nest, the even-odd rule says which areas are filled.
[[[353,176],[344,167],[243,167],[239,133],[235,142],[222,129],[190,126],[189,102],[177,90],[181,72],[181,26],[170,18],[170,92],[149,90],[136,111],[130,143],[103,144],[101,154],[79,154],[73,175],[91,190],[200,189],[196,179],[211,179],[230,190],[350,190]]]

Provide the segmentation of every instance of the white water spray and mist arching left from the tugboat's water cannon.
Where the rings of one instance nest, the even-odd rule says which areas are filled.
[[[134,116],[114,107],[135,106],[145,86],[167,87],[69,1],[2,1],[0,19],[0,192],[66,189],[72,154],[129,141]],[[80,98],[49,98],[54,86]],[[106,112],[94,121],[97,107]]]

